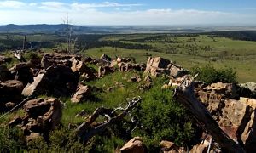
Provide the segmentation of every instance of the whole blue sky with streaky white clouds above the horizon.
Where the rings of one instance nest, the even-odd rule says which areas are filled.
[[[256,26],[256,0],[0,0],[0,25]]]

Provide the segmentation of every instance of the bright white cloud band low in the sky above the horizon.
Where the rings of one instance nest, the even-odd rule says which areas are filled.
[[[8,2],[8,3],[7,3]],[[12,2],[12,3],[10,3]],[[15,2],[15,3],[14,3]],[[134,11],[142,4],[125,3],[17,3],[0,2],[15,9],[0,10],[0,25],[49,23],[59,24],[68,12],[78,25],[193,25],[193,24],[256,24],[254,14],[235,14],[196,9],[148,9]],[[24,6],[26,5],[26,7]],[[18,8],[17,8],[18,7]],[[104,11],[102,8],[111,8]],[[109,11],[111,10],[111,11]]]

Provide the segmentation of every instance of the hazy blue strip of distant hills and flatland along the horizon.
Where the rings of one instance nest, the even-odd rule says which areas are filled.
[[[70,25],[73,34],[131,34],[131,33],[201,33],[209,31],[256,31],[253,27],[230,27],[230,26],[75,26]],[[15,25],[9,24],[0,26],[0,33],[46,33],[46,34],[63,34],[67,25]]]

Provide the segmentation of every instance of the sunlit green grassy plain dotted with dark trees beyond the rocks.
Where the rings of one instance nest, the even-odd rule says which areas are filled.
[[[100,57],[108,54],[115,56],[133,57],[137,62],[147,62],[148,55],[160,56],[175,61],[186,69],[195,65],[213,65],[216,68],[231,67],[237,72],[239,82],[256,82],[256,42],[232,40],[225,37],[160,37],[152,40],[147,35],[117,35],[103,37],[101,41],[121,41],[127,43],[143,43],[158,48],[154,49],[126,49],[101,47],[90,48],[82,54]],[[146,38],[146,41],[143,40]],[[143,42],[142,42],[143,40]],[[206,49],[205,49],[206,48]],[[175,49],[175,51],[170,51]],[[193,50],[194,49],[194,50]]]

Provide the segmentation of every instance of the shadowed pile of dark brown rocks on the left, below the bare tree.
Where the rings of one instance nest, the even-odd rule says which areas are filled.
[[[81,92],[79,78],[92,80],[97,76],[79,55],[44,54],[42,59],[31,59],[9,69],[0,65],[0,111],[9,110],[23,96],[70,96]]]

